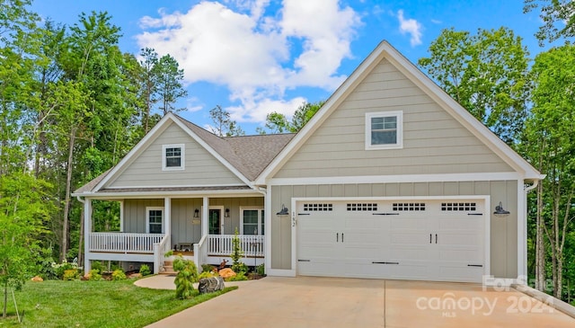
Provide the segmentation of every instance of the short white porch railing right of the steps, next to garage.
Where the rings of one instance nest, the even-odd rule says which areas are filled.
[[[265,238],[263,235],[238,235],[244,257],[263,257]],[[234,251],[234,235],[208,235],[208,255],[229,256]]]

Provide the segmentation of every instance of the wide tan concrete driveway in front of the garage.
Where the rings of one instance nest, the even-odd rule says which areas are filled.
[[[512,288],[312,277],[239,285],[148,327],[575,327],[571,316]]]

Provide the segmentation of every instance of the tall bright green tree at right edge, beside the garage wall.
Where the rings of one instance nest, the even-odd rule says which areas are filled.
[[[562,298],[565,244],[575,230],[575,46],[539,54],[533,78],[532,116],[521,148],[547,175],[536,195],[536,287],[544,288],[544,258],[549,255],[553,296]]]

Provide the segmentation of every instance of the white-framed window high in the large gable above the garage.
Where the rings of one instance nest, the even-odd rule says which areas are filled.
[[[403,148],[403,111],[366,114],[366,149]]]

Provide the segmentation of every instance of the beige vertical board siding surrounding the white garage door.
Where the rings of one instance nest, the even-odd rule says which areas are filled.
[[[319,184],[304,186],[273,186],[271,188],[271,268],[291,268],[291,219],[277,216],[282,204],[291,207],[292,198],[306,197],[428,197],[428,196],[490,196],[491,208],[491,274],[500,278],[517,278],[517,181],[492,182],[404,182]],[[502,202],[509,217],[491,215]]]

